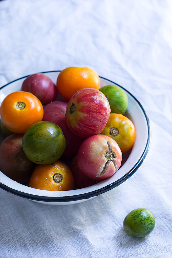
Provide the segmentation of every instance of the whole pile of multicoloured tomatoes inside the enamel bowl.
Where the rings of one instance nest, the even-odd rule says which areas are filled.
[[[57,94],[64,100],[55,101]],[[1,104],[0,170],[19,183],[51,191],[109,178],[134,144],[134,125],[124,116],[127,106],[122,88],[100,87],[99,76],[87,67],[62,70],[56,85],[45,74],[28,76],[21,91]]]

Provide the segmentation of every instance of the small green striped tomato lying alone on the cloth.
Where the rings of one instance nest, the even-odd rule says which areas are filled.
[[[131,237],[146,237],[155,227],[155,217],[148,209],[135,209],[125,217],[123,227]]]

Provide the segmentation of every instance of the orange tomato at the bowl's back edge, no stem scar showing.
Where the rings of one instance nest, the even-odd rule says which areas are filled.
[[[75,92],[83,88],[100,88],[100,79],[88,67],[68,67],[57,77],[57,90],[63,98],[70,100]]]

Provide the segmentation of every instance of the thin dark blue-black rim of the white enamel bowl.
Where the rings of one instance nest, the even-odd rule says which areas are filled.
[[[46,72],[41,72],[43,74],[45,73],[49,73],[49,72],[61,72],[61,70],[55,70],[55,71],[46,71]],[[18,78],[16,80],[13,80],[12,82],[9,82],[7,84],[5,84],[4,86],[2,86],[0,88],[0,90],[4,87],[6,87],[7,85],[13,83],[13,82],[16,82],[17,80],[20,80],[20,79],[24,79],[26,77],[28,77],[29,75],[27,76],[24,76],[24,77],[21,77],[21,78]],[[149,119],[146,115],[146,112],[143,108],[143,106],[140,104],[140,102],[128,91],[126,90],[124,87],[122,87],[121,85],[113,82],[112,80],[109,80],[107,78],[104,78],[102,76],[99,76],[100,78],[102,79],[105,79],[105,80],[108,80],[109,82],[111,83],[114,83],[116,84],[117,86],[119,86],[120,88],[122,88],[123,90],[125,90],[130,96],[132,96],[132,98],[139,104],[140,108],[142,109],[144,115],[145,115],[145,118],[146,118],[146,122],[147,122],[147,127],[148,127],[148,137],[147,137],[147,142],[146,142],[146,147],[141,155],[141,157],[139,158],[139,160],[137,161],[137,163],[124,175],[122,176],[120,179],[118,179],[117,181],[105,186],[105,187],[102,187],[98,190],[95,190],[95,191],[91,191],[91,192],[88,192],[88,193],[83,193],[83,194],[80,194],[80,195],[72,195],[72,196],[62,196],[62,197],[47,197],[47,196],[39,196],[39,195],[32,195],[32,194],[29,194],[29,193],[25,193],[25,192],[21,192],[21,191],[18,191],[18,190],[15,190],[13,188],[10,188],[8,186],[6,186],[5,184],[1,183],[0,182],[0,188],[8,191],[8,192],[11,192],[13,193],[14,195],[18,195],[20,197],[24,197],[24,198],[27,198],[27,199],[31,199],[31,200],[35,200],[35,201],[45,201],[45,202],[68,202],[68,201],[77,201],[77,200],[84,200],[84,199],[89,199],[91,197],[94,197],[94,196],[98,196],[104,192],[107,192],[117,186],[119,186],[121,183],[123,183],[125,180],[127,180],[131,175],[133,175],[136,170],[138,170],[138,168],[141,166],[141,164],[143,163],[143,160],[145,159],[147,153],[148,153],[148,150],[149,150],[149,147],[150,147],[150,142],[151,142],[151,130],[150,130],[150,123],[149,123]]]

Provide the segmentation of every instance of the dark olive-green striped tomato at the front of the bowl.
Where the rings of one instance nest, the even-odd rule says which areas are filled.
[[[58,125],[42,121],[29,127],[22,144],[26,156],[32,162],[51,164],[62,156],[66,140]]]

